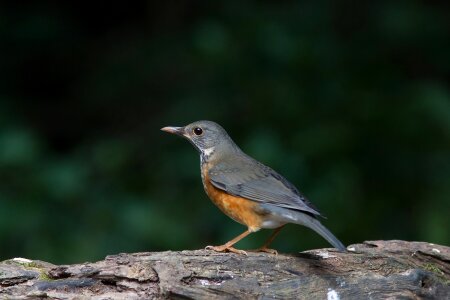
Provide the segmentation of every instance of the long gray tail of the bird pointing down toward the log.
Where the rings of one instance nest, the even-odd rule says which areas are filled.
[[[341,243],[325,226],[323,226],[319,220],[316,218],[299,212],[295,210],[290,210],[287,208],[277,207],[270,205],[270,212],[280,218],[280,220],[287,221],[289,223],[295,223],[299,225],[306,226],[311,228],[318,234],[320,234],[324,239],[326,239],[334,248],[339,251],[347,251],[347,248],[344,244]]]

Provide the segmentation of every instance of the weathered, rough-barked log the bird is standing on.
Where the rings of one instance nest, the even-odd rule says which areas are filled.
[[[0,263],[0,299],[450,299],[450,248],[372,241],[348,253],[205,250],[119,254],[95,263]]]

